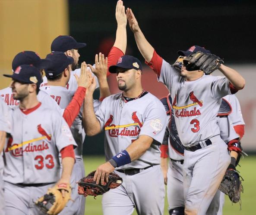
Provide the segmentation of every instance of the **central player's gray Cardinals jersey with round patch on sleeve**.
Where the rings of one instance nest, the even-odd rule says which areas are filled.
[[[145,168],[160,164],[159,145],[163,141],[166,114],[161,102],[151,93],[124,102],[122,93],[105,98],[96,117],[105,130],[106,160],[125,150],[139,135],[154,139],[151,147],[138,160],[117,169]]]

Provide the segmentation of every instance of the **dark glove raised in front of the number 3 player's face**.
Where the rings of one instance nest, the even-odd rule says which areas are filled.
[[[224,61],[216,55],[196,52],[183,60],[187,71],[202,70],[206,75],[218,69]]]

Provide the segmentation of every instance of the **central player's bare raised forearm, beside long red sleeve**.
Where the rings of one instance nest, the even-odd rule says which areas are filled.
[[[93,136],[101,132],[100,123],[97,120],[93,109],[92,93],[89,91],[87,91],[85,94],[82,122],[86,135]]]

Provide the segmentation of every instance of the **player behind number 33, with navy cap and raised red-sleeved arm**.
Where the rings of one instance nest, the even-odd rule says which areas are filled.
[[[41,59],[39,55],[35,52],[23,51],[23,52],[19,52],[13,58],[12,68],[13,68],[13,71],[15,71],[15,69],[22,64],[28,64],[28,65],[32,64],[36,68],[40,69],[40,72],[42,74],[42,68],[46,68],[49,65],[49,63],[50,62],[48,60]],[[79,81],[78,82],[79,87],[77,88],[72,101],[65,108],[65,110],[60,109],[59,105],[57,105],[57,103],[54,102],[54,100],[47,93],[40,90],[37,95],[38,101],[48,104],[49,107],[59,111],[63,115],[63,118],[66,120],[69,126],[71,126],[77,114],[79,113],[79,110],[80,110],[80,107],[82,106],[83,98],[85,95],[85,86],[84,86],[85,76],[82,74],[82,76],[79,77],[78,81]],[[15,107],[19,105],[19,101],[13,98],[12,89],[10,87],[1,89],[0,95],[9,107]],[[55,101],[58,102],[60,98],[54,98],[54,99]]]

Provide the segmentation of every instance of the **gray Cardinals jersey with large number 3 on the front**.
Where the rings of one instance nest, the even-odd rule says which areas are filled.
[[[188,147],[220,134],[217,114],[221,98],[231,94],[226,77],[203,75],[186,81],[180,70],[163,60],[159,81],[171,92],[177,132]]]

